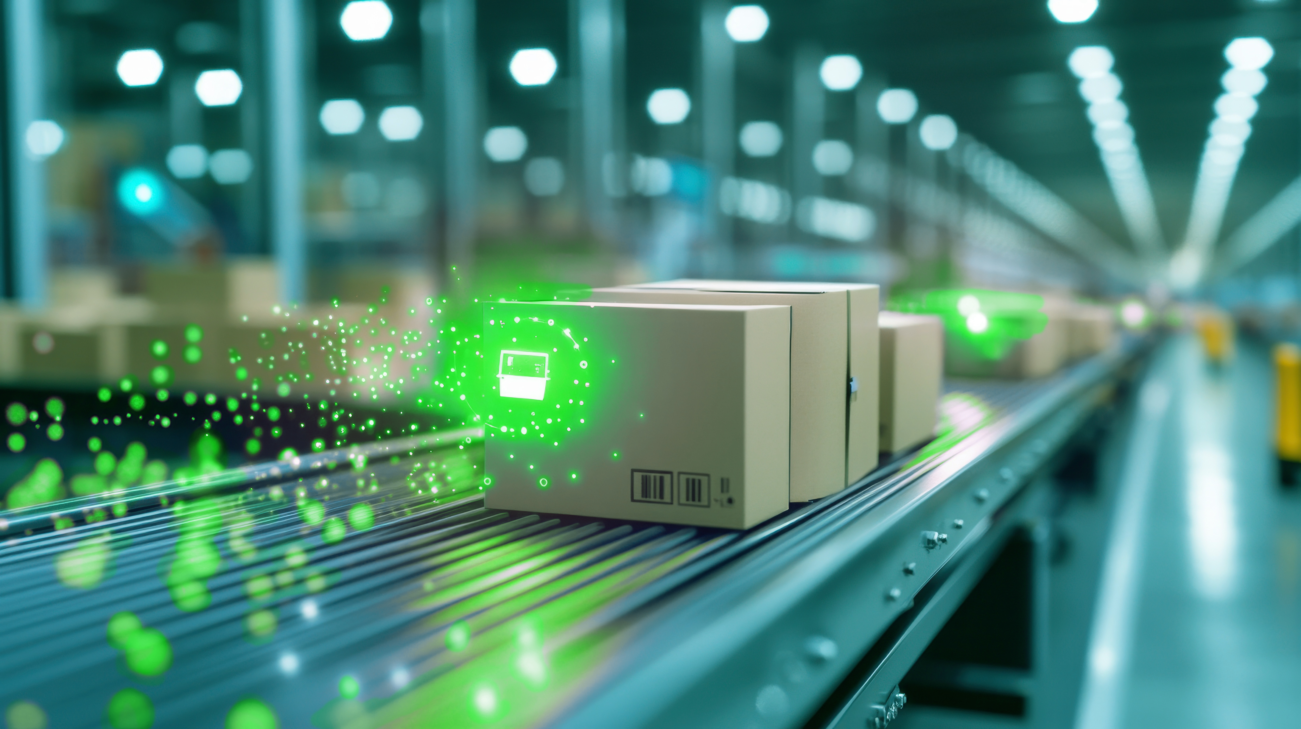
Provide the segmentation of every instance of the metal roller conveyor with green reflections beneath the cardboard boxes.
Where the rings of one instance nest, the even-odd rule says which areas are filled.
[[[716,669],[744,660],[775,603],[835,579],[818,555],[840,540],[838,553],[892,565],[877,555],[898,547],[892,522],[1026,428],[1050,432],[1045,418],[1129,357],[956,383],[946,437],[748,532],[487,510],[467,432],[0,513],[0,706],[31,702],[49,726],[130,726],[141,698],[124,690],[147,696],[155,726],[254,729],[264,709],[280,726],[729,725],[739,715],[700,708],[712,695],[758,707],[747,724],[788,725],[814,699],[778,689],[765,708],[769,685],[756,699],[743,672]],[[896,598],[859,616],[864,637],[903,609]],[[861,653],[838,640],[809,696]],[[713,689],[686,683],[701,677]]]

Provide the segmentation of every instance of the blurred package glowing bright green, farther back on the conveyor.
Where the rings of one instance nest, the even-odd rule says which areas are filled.
[[[1038,294],[945,289],[899,296],[891,307],[939,316],[948,375],[1042,378],[1066,362],[1067,327],[1060,307]]]

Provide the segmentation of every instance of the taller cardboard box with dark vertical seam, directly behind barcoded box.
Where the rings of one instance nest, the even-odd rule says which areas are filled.
[[[791,501],[843,489],[879,452],[879,288],[682,279],[595,289],[593,301],[791,307]]]

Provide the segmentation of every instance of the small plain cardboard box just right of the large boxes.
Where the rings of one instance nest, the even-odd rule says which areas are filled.
[[[881,450],[905,450],[932,439],[945,363],[945,325],[937,316],[882,311]]]

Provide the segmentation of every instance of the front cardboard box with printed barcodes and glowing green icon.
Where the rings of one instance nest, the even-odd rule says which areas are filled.
[[[487,505],[725,529],[785,512],[790,322],[787,306],[485,303]]]

